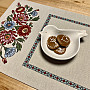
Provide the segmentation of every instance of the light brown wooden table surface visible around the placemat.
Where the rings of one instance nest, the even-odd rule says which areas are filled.
[[[0,16],[14,0],[0,0]],[[90,16],[90,0],[30,0],[36,3]],[[3,73],[0,73],[0,90],[35,90]]]

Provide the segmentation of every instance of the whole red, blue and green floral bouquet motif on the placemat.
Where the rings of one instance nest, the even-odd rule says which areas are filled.
[[[31,33],[33,27],[32,21],[38,21],[40,19],[38,11],[39,9],[33,10],[33,8],[28,5],[22,6],[18,3],[17,8],[11,11],[12,14],[1,22],[0,57],[4,64],[7,63],[7,58],[21,51],[22,43],[28,39]],[[10,45],[10,47],[8,45]],[[5,50],[4,55],[2,50]]]

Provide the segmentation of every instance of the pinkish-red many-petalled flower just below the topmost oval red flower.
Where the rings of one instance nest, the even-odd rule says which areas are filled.
[[[16,21],[16,23],[19,23],[19,25],[22,25],[22,23],[25,23],[25,21],[28,21],[28,15],[24,13],[20,14],[14,14],[13,20]]]

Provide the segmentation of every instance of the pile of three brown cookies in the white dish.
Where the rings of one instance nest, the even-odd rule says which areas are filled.
[[[47,47],[56,54],[62,55],[70,44],[70,38],[66,35],[50,36],[47,40]]]

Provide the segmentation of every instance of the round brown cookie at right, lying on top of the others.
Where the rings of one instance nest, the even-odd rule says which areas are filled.
[[[61,46],[67,47],[70,44],[70,38],[66,35],[58,35],[57,41]]]

